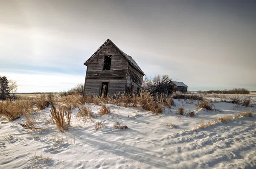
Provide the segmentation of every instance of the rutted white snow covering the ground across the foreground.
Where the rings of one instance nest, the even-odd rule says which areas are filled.
[[[215,110],[196,110],[198,101],[175,99],[176,106],[160,115],[134,107],[106,104],[111,115],[99,116],[100,106],[86,104],[97,115],[87,125],[72,110],[71,128],[60,132],[47,123],[50,107],[38,113],[37,126],[47,130],[24,129],[17,122],[3,118],[0,123],[0,168],[57,169],[248,169],[256,168],[256,115],[236,118],[205,129],[198,128],[203,120],[213,123],[216,117],[234,115],[252,109],[232,103],[214,103]],[[195,117],[176,115],[183,106]],[[95,130],[99,121],[105,127]],[[126,130],[113,130],[116,123]],[[176,127],[170,127],[175,124]]]

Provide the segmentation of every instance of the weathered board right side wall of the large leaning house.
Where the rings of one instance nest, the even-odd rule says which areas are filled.
[[[138,86],[142,86],[143,81],[143,75],[136,70],[131,64],[128,64],[128,74],[127,74],[127,85],[128,87],[131,87],[131,85],[134,85],[134,91],[133,93],[137,93]]]

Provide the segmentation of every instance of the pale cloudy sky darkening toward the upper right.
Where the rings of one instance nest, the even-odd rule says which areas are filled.
[[[0,76],[18,92],[84,83],[108,38],[188,90],[256,90],[255,0],[0,0]]]

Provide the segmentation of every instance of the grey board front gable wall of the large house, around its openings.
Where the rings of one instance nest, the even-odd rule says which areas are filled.
[[[112,55],[111,70],[104,70],[104,56]],[[87,65],[84,93],[98,95],[101,82],[109,81],[108,95],[124,92],[127,81],[127,60],[109,42]]]

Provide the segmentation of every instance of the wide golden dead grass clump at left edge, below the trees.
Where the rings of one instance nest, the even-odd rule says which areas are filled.
[[[9,99],[0,101],[0,115],[4,116],[9,121],[14,121],[20,118],[24,113],[32,112],[33,103],[31,100],[16,100]]]

